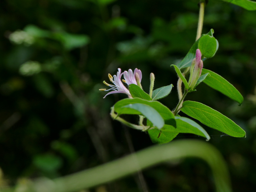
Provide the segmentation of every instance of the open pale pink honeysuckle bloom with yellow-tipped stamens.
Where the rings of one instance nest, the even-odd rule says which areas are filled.
[[[99,89],[99,90],[100,91],[114,90],[114,91],[107,93],[103,98],[105,98],[107,95],[112,94],[112,93],[125,93],[128,95],[129,98],[132,98],[130,91],[124,86],[122,81],[125,82],[127,85],[130,85],[130,84],[138,85],[137,82],[139,82],[139,84],[140,84],[141,78],[142,78],[142,73],[141,73],[141,70],[139,70],[137,68],[134,70],[134,73],[131,69],[129,69],[128,71],[124,71],[123,73],[121,73],[121,69],[118,68],[117,74],[114,75],[113,77],[111,76],[111,74],[108,74],[109,80],[112,83],[114,83],[114,85],[111,85],[111,84],[103,81],[103,83],[105,85],[107,85],[111,88],[108,90],[106,90],[106,89]],[[121,81],[122,75],[124,75],[124,79]]]

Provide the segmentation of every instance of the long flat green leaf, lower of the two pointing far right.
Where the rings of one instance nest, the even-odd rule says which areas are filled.
[[[231,119],[207,105],[196,101],[185,101],[181,111],[201,123],[233,137],[246,137],[245,131]]]

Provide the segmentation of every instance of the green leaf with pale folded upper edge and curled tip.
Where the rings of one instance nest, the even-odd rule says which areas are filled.
[[[210,136],[208,135],[208,133],[195,121],[180,116],[175,116],[175,119],[177,125],[176,131],[178,131],[179,133],[193,133],[195,135],[207,138],[207,141],[210,140]]]

